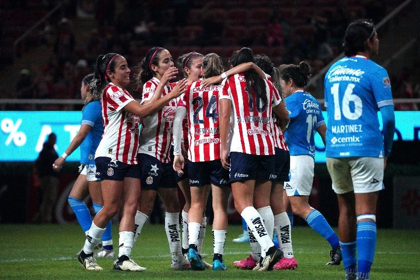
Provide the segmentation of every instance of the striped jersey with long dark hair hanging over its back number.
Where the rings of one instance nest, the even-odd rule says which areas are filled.
[[[272,106],[280,101],[273,83],[265,81],[269,104],[256,98],[254,88],[248,89],[245,76],[236,74],[222,81],[220,99],[232,101],[233,133],[230,140],[230,152],[251,155],[274,155],[274,123]],[[233,120],[232,120],[233,119]]]

